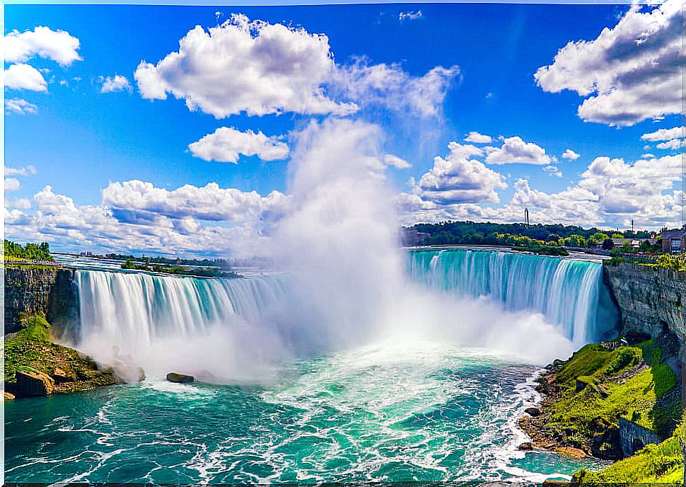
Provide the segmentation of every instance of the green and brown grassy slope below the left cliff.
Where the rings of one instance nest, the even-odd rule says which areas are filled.
[[[16,382],[16,372],[26,368],[51,377],[55,369],[62,369],[71,380],[57,384],[57,392],[81,391],[117,383],[115,377],[99,371],[92,360],[73,348],[52,343],[50,323],[43,316],[30,316],[23,322],[26,327],[5,340],[5,382],[8,390],[11,391]]]

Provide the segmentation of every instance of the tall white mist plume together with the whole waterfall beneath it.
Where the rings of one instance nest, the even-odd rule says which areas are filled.
[[[544,363],[593,339],[597,265],[525,256],[528,267],[507,266],[512,257],[496,253],[462,265],[403,251],[382,141],[376,125],[337,119],[296,136],[291,207],[268,249],[282,275],[79,273],[79,347],[157,377],[268,383],[298,358],[374,343],[450,343]]]

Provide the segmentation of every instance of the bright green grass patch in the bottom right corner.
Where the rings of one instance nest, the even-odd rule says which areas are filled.
[[[580,470],[574,474],[572,483],[586,486],[602,485],[604,483],[675,483],[682,485],[684,463],[679,444],[680,437],[684,437],[685,423],[660,445],[648,445],[641,451],[608,466],[598,472]]]

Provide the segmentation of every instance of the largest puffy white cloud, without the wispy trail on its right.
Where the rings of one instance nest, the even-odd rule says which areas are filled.
[[[354,105],[324,94],[322,84],[333,68],[325,35],[233,15],[207,31],[197,25],[177,52],[157,64],[141,62],[134,78],[143,98],[170,93],[190,110],[216,118],[242,112],[352,113]]]

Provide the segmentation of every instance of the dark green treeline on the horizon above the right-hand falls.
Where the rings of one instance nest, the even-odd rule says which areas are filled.
[[[425,234],[425,245],[508,245],[594,247],[607,239],[648,239],[648,231],[610,232],[575,225],[523,223],[442,222],[416,224],[415,231]]]

